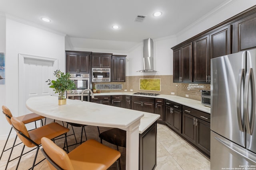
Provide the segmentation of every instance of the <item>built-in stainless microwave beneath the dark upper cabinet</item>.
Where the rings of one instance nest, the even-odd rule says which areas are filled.
[[[92,82],[110,82],[110,68],[92,68]]]

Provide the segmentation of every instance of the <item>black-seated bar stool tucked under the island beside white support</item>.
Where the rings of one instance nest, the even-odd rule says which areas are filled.
[[[118,128],[109,129],[107,131],[104,131],[100,133],[100,143],[102,143],[102,140],[107,141],[108,143],[111,143],[113,145],[116,145],[117,150],[119,147],[126,147],[126,131]],[[121,169],[121,163],[119,160],[119,167]]]

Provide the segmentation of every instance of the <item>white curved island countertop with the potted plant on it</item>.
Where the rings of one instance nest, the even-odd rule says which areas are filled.
[[[125,129],[140,119],[139,133],[143,133],[160,117],[158,114],[80,100],[67,99],[66,105],[59,106],[56,96],[29,98],[26,107],[30,111],[51,119],[120,129]]]

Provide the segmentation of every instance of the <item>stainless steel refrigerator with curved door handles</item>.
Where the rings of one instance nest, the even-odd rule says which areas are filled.
[[[211,60],[211,170],[256,169],[256,49]]]

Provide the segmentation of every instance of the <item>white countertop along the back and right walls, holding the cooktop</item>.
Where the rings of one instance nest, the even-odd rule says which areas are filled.
[[[211,108],[203,106],[201,104],[201,101],[198,100],[193,100],[189,98],[183,98],[180,96],[174,96],[174,95],[165,95],[165,94],[160,94],[158,96],[146,96],[146,95],[137,95],[134,94],[135,92],[110,92],[110,93],[94,93],[94,96],[112,96],[112,95],[130,95],[130,96],[141,96],[141,97],[149,97],[149,98],[162,98],[166,100],[170,100],[172,102],[176,102],[178,104],[182,104],[184,106],[192,107],[194,109],[198,109],[200,111],[204,111],[206,113],[211,113]]]

